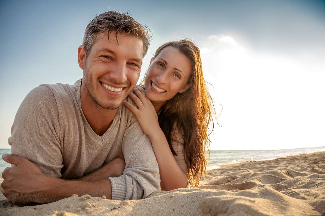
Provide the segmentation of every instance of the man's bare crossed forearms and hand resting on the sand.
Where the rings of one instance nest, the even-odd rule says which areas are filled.
[[[49,203],[70,197],[89,194],[111,199],[111,185],[108,177],[123,175],[125,162],[116,158],[97,171],[76,180],[63,180],[44,175],[26,158],[14,154],[4,154],[2,159],[14,167],[6,167],[2,173],[1,191],[13,205],[29,202]],[[81,180],[81,181],[80,181]],[[59,189],[62,188],[62,189]]]

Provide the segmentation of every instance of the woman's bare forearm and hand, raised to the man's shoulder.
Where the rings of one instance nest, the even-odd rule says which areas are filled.
[[[130,93],[129,96],[134,100],[138,108],[126,101],[123,101],[123,104],[136,115],[142,130],[151,141],[159,165],[161,189],[186,188],[188,179],[177,164],[165,135],[159,127],[155,108],[151,101],[145,97],[145,92],[142,88],[140,90],[135,88],[134,93]]]

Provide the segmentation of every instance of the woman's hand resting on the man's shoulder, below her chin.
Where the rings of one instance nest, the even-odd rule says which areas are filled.
[[[123,101],[123,104],[129,108],[138,119],[143,132],[150,138],[158,131],[161,131],[158,123],[158,116],[151,101],[146,97],[143,88],[134,88],[133,92],[129,94],[132,100],[136,103],[136,108],[132,104]]]

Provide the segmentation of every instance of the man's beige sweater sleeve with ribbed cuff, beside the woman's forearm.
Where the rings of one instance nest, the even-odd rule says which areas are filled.
[[[123,155],[123,175],[109,178],[112,199],[144,199],[160,189],[159,168],[151,142],[135,116],[124,134]]]

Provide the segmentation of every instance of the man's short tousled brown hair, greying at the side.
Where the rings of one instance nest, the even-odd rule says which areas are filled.
[[[118,33],[129,34],[141,39],[143,42],[143,57],[146,55],[151,38],[150,29],[138,23],[128,13],[108,11],[93,18],[86,27],[83,41],[86,56],[89,54],[91,47],[97,39],[97,33],[105,31],[107,31],[107,37],[109,37],[111,31],[116,31],[115,38],[117,43]]]

